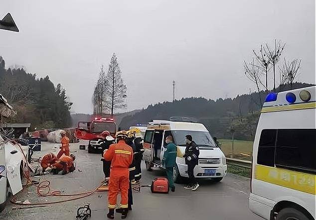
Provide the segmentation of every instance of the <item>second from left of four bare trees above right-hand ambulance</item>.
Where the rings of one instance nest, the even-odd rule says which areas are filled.
[[[268,89],[268,72],[271,68],[270,56],[267,54],[267,50],[265,47],[262,46],[262,44],[260,45],[259,52],[256,52],[255,50],[253,50],[253,53],[254,53],[256,60],[259,64],[258,66],[264,72],[265,84],[263,84],[263,83],[261,83],[261,84],[265,87],[266,93],[268,93],[268,91],[269,91],[269,89]]]

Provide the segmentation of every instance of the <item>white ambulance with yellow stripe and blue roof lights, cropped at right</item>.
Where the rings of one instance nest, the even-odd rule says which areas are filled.
[[[249,207],[266,220],[315,220],[316,86],[271,93],[253,146]]]

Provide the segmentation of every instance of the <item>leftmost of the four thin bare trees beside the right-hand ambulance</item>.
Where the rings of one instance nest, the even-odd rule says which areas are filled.
[[[261,96],[260,96],[260,88],[259,88],[259,84],[262,84],[260,80],[262,71],[260,70],[260,67],[256,65],[254,58],[252,58],[249,64],[247,64],[246,61],[244,61],[244,69],[245,69],[245,75],[247,76],[247,78],[256,84],[259,100],[260,100],[260,105],[262,105]]]

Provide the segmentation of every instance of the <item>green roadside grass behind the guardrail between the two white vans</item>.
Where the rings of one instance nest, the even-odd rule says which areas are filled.
[[[231,158],[232,156],[232,140],[219,139],[221,143],[221,150],[226,157]],[[253,141],[239,141],[234,140],[234,158],[240,160],[251,161],[252,158]]]

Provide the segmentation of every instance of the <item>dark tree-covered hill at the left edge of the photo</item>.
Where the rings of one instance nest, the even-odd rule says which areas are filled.
[[[65,128],[71,126],[70,106],[61,84],[55,86],[49,77],[36,78],[24,69],[5,69],[0,57],[0,94],[17,115],[9,121],[31,123],[31,127]]]

